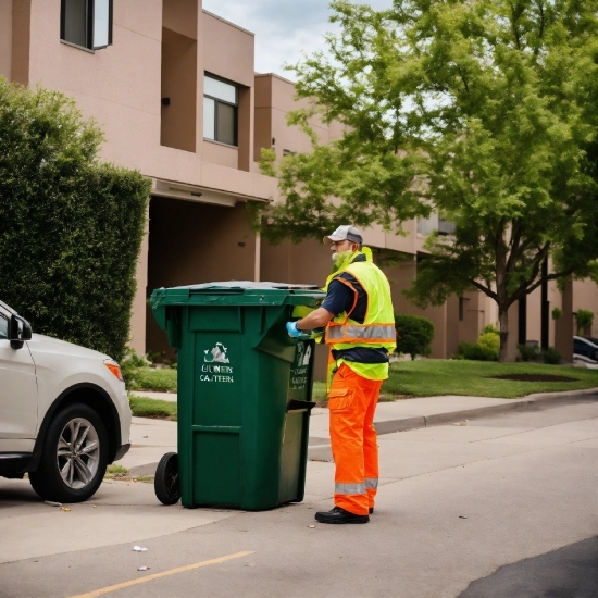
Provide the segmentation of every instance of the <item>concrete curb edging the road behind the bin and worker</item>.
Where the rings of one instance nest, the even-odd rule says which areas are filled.
[[[573,400],[584,400],[583,397],[598,395],[598,387],[583,388],[581,390],[564,390],[560,393],[536,393],[522,399],[504,399],[502,404],[491,404],[487,407],[477,407],[475,409],[463,409],[461,411],[448,411],[446,413],[435,413],[433,415],[416,415],[414,418],[404,418],[402,420],[388,420],[375,424],[378,434],[393,434],[395,432],[408,432],[410,429],[420,429],[435,425],[461,422],[463,420],[473,420],[495,413],[504,413],[508,411],[531,409],[534,407],[548,406],[553,402],[561,402],[563,398]],[[308,459],[312,461],[332,461],[331,445],[321,444],[308,447]],[[136,475],[154,475],[158,463],[147,463],[136,465],[129,469],[129,473]]]

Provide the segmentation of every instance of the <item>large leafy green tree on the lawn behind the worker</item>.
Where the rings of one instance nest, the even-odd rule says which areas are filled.
[[[476,288],[508,310],[548,279],[598,273],[598,3],[595,0],[396,0],[388,11],[332,3],[340,33],[294,66],[312,100],[291,122],[313,151],[265,154],[285,202],[271,240],[338,222],[439,213],[408,297],[420,307]],[[344,124],[320,146],[317,113]],[[545,260],[551,267],[543,269]]]

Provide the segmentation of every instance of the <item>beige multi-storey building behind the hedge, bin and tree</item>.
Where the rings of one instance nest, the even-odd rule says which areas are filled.
[[[139,352],[167,350],[147,304],[157,287],[322,283],[328,273],[322,244],[271,247],[247,225],[249,202],[279,200],[276,180],[260,174],[261,148],[278,157],[310,148],[286,125],[297,108],[292,84],[254,73],[253,42],[250,32],[203,11],[201,0],[0,0],[0,74],[72,96],[105,133],[102,158],[153,182],[132,320]],[[337,125],[313,125],[322,141],[342,134]],[[373,228],[365,240],[375,256],[395,258],[386,272],[396,311],[429,317],[433,357],[448,358],[496,323],[497,313],[478,292],[425,311],[404,299],[425,236],[438,226],[437,219],[412,221],[406,237]],[[547,315],[555,307],[564,312],[557,323]],[[513,356],[524,338],[557,345],[570,360],[577,309],[597,314],[591,332],[598,336],[598,289],[588,282],[564,294],[548,285],[530,296],[526,310],[514,306]]]

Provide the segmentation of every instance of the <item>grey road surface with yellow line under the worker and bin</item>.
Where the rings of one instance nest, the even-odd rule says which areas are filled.
[[[123,482],[61,511],[0,478],[0,596],[598,596],[597,397],[379,447],[367,525],[313,520],[331,508],[326,462],[309,463],[304,502],[261,513],[162,507]]]

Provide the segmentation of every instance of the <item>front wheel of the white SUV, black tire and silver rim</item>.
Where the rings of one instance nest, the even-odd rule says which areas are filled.
[[[45,500],[82,502],[99,488],[107,462],[102,420],[90,407],[75,403],[50,423],[39,466],[29,473],[29,479]]]

